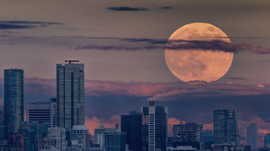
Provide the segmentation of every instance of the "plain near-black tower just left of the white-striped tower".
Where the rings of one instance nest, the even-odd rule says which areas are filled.
[[[141,151],[141,119],[142,114],[130,111],[129,115],[121,115],[121,132],[127,133],[129,150]]]

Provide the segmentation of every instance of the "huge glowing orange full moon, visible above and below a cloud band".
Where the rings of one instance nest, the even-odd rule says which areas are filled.
[[[228,36],[218,27],[202,22],[184,25],[168,40],[222,40],[230,43]],[[165,49],[165,59],[166,66],[180,80],[211,82],[227,73],[233,53],[212,49]]]

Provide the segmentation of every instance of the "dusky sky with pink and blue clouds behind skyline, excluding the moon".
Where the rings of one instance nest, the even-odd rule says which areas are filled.
[[[121,115],[158,101],[168,106],[170,128],[194,121],[212,129],[214,110],[238,110],[241,143],[257,123],[262,147],[270,132],[269,8],[265,0],[2,0],[0,99],[4,69],[23,68],[25,102],[48,101],[56,95],[56,64],[78,59],[92,134],[101,121],[113,127]],[[184,83],[166,67],[166,41],[192,22],[211,23],[232,43],[221,48],[234,58],[216,82]]]

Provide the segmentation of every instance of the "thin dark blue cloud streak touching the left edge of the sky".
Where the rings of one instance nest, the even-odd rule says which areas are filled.
[[[0,29],[30,29],[35,27],[46,27],[48,25],[61,24],[58,22],[28,22],[28,21],[0,21]]]

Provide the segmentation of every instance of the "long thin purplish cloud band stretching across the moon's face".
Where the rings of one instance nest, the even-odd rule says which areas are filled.
[[[91,38],[94,39],[94,38]],[[200,49],[224,52],[239,52],[248,50],[258,54],[269,54],[270,48],[253,46],[250,44],[233,44],[223,40],[156,40],[156,39],[121,39],[121,38],[97,38],[105,40],[121,40],[138,43],[137,45],[78,45],[70,49],[99,49],[99,50],[156,50],[156,49]],[[222,39],[222,38],[219,38]]]

